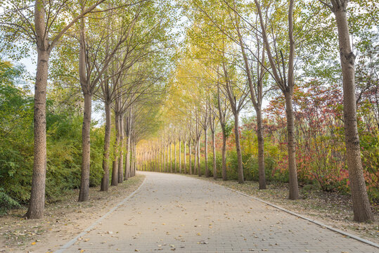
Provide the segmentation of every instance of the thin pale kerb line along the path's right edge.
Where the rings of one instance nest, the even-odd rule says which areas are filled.
[[[196,179],[196,178],[195,178],[195,179]],[[200,180],[201,180],[201,179],[200,179]],[[213,183],[213,184],[215,184],[215,185],[217,185],[217,186],[219,186],[219,187],[223,187],[223,188],[226,188],[226,189],[228,189],[228,190],[231,190],[231,191],[233,191],[233,192],[235,192],[235,193],[238,193],[238,194],[240,194],[240,195],[244,195],[245,197],[250,197],[250,198],[252,198],[253,200],[257,200],[257,201],[259,201],[259,202],[263,202],[263,203],[266,204],[266,205],[269,205],[269,206],[271,206],[271,207],[274,207],[274,208],[276,208],[276,209],[279,209],[279,210],[281,210],[281,211],[283,211],[283,212],[286,212],[286,213],[288,213],[288,214],[292,214],[292,215],[294,215],[294,216],[297,216],[297,217],[299,217],[299,218],[301,218],[301,219],[304,219],[304,220],[306,220],[306,221],[309,221],[309,222],[311,222],[311,223],[314,223],[314,224],[316,224],[316,225],[318,225],[318,226],[321,226],[321,227],[323,227],[323,228],[328,228],[330,231],[334,231],[334,232],[336,232],[336,233],[340,233],[341,235],[346,235],[346,236],[348,236],[349,238],[353,238],[353,239],[355,239],[355,240],[359,240],[360,242],[364,242],[364,243],[366,243],[366,244],[368,244],[368,245],[371,245],[371,246],[373,246],[373,247],[377,247],[377,248],[379,248],[379,245],[376,244],[375,242],[371,242],[370,240],[366,240],[366,239],[364,239],[364,238],[360,238],[360,237],[358,237],[358,236],[356,236],[356,235],[352,235],[352,234],[347,233],[347,232],[345,232],[345,231],[340,231],[340,230],[337,229],[337,228],[333,228],[333,227],[331,227],[331,226],[328,226],[328,225],[326,225],[326,224],[324,224],[324,223],[321,223],[321,222],[319,222],[319,221],[316,221],[316,220],[314,220],[314,219],[309,219],[309,218],[307,218],[306,216],[302,216],[301,214],[297,214],[297,213],[292,212],[292,211],[290,211],[290,210],[287,210],[287,209],[285,209],[285,208],[283,208],[283,207],[279,207],[279,206],[274,205],[274,204],[272,204],[272,203],[270,203],[270,202],[267,202],[266,200],[261,200],[259,197],[254,197],[254,196],[252,196],[252,195],[248,195],[248,194],[246,194],[246,193],[242,193],[242,192],[240,192],[239,190],[233,190],[232,188],[229,188],[229,187],[226,187],[226,186],[221,186],[221,185],[219,185],[218,183],[214,183],[214,182],[212,182],[212,181],[211,181],[211,183]]]

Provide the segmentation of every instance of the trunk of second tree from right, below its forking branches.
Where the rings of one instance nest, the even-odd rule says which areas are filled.
[[[285,112],[287,115],[287,141],[288,141],[288,174],[290,179],[290,200],[299,198],[297,187],[296,147],[295,147],[295,123],[293,116],[292,94],[285,94]]]

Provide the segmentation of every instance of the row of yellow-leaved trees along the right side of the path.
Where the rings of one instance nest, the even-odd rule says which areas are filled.
[[[263,103],[270,96],[271,98],[278,96],[280,101],[276,105],[285,105],[283,110],[285,113],[276,114],[278,117],[275,124],[283,122],[285,117],[285,125],[281,124],[281,127],[286,129],[283,142],[287,145],[285,164],[288,166],[289,197],[291,200],[296,200],[299,198],[297,181],[299,167],[295,147],[300,145],[299,131],[310,133],[309,129],[314,127],[314,122],[302,120],[301,124],[295,123],[295,117],[302,119],[300,114],[306,110],[294,108],[294,96],[298,96],[300,92],[312,91],[309,86],[303,84],[322,85],[330,90],[335,84],[340,83],[342,89],[338,91],[342,91],[343,96],[340,93],[336,94],[337,98],[332,103],[340,105],[343,103],[341,107],[343,113],[341,110],[339,112],[345,129],[346,150],[342,150],[339,155],[335,155],[338,153],[337,150],[331,150],[333,155],[329,156],[335,157],[336,160],[344,160],[348,168],[354,220],[373,220],[364,178],[368,168],[364,168],[361,162],[361,142],[356,117],[356,105],[359,102],[356,98],[359,95],[356,94],[365,92],[360,87],[356,92],[355,77],[359,75],[359,78],[364,78],[366,73],[355,72],[355,55],[352,52],[350,31],[354,37],[359,38],[356,39],[356,44],[366,45],[359,48],[359,53],[364,58],[367,49],[374,46],[368,37],[376,36],[373,35],[375,24],[369,18],[378,13],[378,10],[375,1],[370,4],[366,4],[366,1],[354,1],[350,8],[348,2],[255,0],[252,4],[249,1],[184,1],[184,15],[190,21],[186,30],[186,59],[181,60],[172,78],[171,92],[164,109],[165,117],[170,119],[169,124],[164,124],[159,138],[139,145],[141,147],[138,148],[141,150],[139,161],[142,168],[145,169],[150,164],[148,166],[153,170],[172,171],[169,169],[172,167],[169,158],[172,147],[176,153],[176,143],[179,143],[179,154],[181,154],[181,143],[184,143],[184,149],[188,146],[188,158],[191,160],[193,144],[195,151],[193,168],[200,176],[200,138],[203,136],[204,171],[205,175],[209,176],[207,131],[210,129],[213,170],[217,172],[214,131],[218,129],[215,127],[218,122],[223,140],[221,171],[222,177],[226,179],[225,145],[228,131],[231,131],[229,117],[232,117],[238,182],[243,183],[246,165],[243,160],[245,147],[240,144],[240,115],[252,105],[256,115],[254,129],[257,136],[259,188],[266,188],[264,167],[267,156],[264,151],[266,119],[262,116]],[[355,8],[366,11],[360,12],[364,14],[359,14]],[[332,13],[333,19],[330,18]],[[333,62],[335,60],[333,57],[338,56],[338,53],[340,65]],[[368,68],[373,70],[375,67],[371,65]],[[377,94],[377,88],[373,91],[375,85],[378,86],[377,76],[371,72],[370,77],[371,81],[364,84],[365,89]],[[371,109],[366,110],[366,113],[375,115],[375,106],[371,106],[375,105],[375,101],[371,98],[368,99]],[[316,106],[320,106],[321,102]],[[271,108],[271,112],[275,109],[278,108]],[[323,112],[311,113],[322,115]],[[367,122],[363,119],[363,124],[365,123]],[[340,123],[330,122],[330,124]],[[378,127],[373,125],[369,132],[375,136],[377,129]],[[320,138],[329,138],[326,132],[321,131],[319,134]],[[311,136],[301,136],[309,143]],[[186,154],[186,151],[184,153]],[[181,155],[179,157],[181,160]],[[167,160],[169,160],[168,168]],[[158,165],[157,161],[160,161]],[[189,167],[184,166],[183,171],[192,173],[192,163],[189,164]],[[179,171],[181,168],[179,162]],[[175,169],[176,162],[174,162],[174,171]],[[373,174],[376,172],[373,171]],[[217,173],[213,175],[216,176]]]

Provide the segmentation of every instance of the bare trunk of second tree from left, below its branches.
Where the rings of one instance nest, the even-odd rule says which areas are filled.
[[[89,167],[91,164],[91,105],[92,96],[89,91],[84,92],[84,117],[82,127],[82,177],[80,180],[79,202],[89,200]]]

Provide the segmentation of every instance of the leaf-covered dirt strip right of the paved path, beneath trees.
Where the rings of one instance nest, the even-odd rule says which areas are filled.
[[[199,178],[198,176],[193,177]],[[284,209],[302,214],[302,216],[379,244],[379,207],[373,207],[375,216],[373,223],[355,222],[349,195],[327,193],[315,186],[304,186],[300,188],[300,200],[288,200],[289,190],[286,183],[271,183],[267,185],[266,190],[258,190],[259,183],[257,182],[246,181],[238,184],[237,181],[222,181],[221,179],[214,181],[213,178],[207,179],[204,176],[200,179],[258,197]]]

